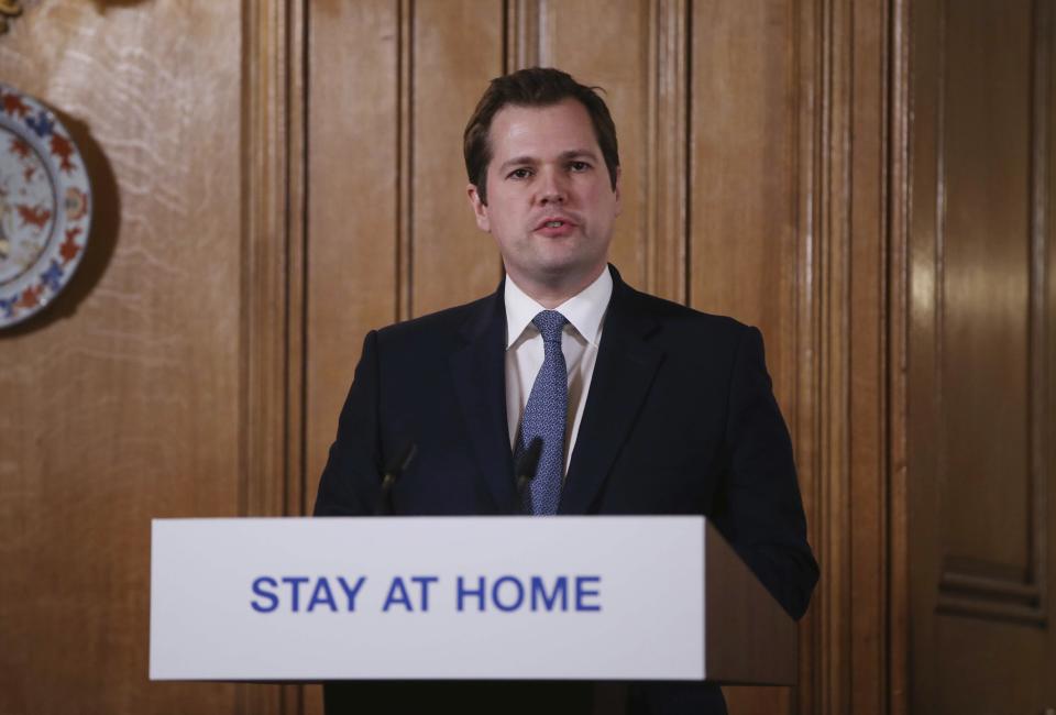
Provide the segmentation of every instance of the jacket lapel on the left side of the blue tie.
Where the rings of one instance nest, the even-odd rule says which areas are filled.
[[[462,329],[465,345],[451,355],[462,415],[484,481],[499,513],[517,512],[513,455],[506,426],[506,308],[503,287]]]

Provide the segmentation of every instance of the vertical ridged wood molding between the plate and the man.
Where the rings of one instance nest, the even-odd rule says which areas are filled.
[[[306,513],[304,0],[244,0],[241,516]],[[237,688],[239,713],[304,712],[301,685]]]

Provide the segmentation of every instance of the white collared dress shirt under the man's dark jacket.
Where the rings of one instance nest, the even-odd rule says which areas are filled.
[[[608,267],[597,279],[554,308],[568,319],[561,337],[561,351],[569,370],[569,414],[564,420],[564,474],[569,473],[575,436],[583,419],[583,406],[591,389],[597,346],[602,341],[602,323],[608,299],[613,295],[613,276]],[[546,310],[529,298],[516,283],[506,276],[506,424],[509,426],[510,449],[516,452],[520,418],[531,394],[536,375],[542,367],[542,336],[531,319]],[[571,419],[570,419],[571,418]]]

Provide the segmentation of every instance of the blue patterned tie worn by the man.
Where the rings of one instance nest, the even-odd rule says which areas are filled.
[[[568,322],[557,310],[543,310],[531,321],[542,334],[543,360],[520,420],[517,457],[536,438],[542,452],[536,476],[525,490],[526,514],[557,514],[564,471],[564,420],[569,404],[569,372],[561,352],[561,330]]]

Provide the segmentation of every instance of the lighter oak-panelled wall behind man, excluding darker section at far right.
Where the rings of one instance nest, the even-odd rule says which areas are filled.
[[[318,711],[315,688],[146,681],[148,520],[310,508],[363,333],[499,277],[461,130],[531,64],[606,90],[627,279],[767,338],[825,575],[801,685],[732,689],[734,712],[886,711],[890,12],[26,3],[2,79],[70,119],[99,219],[75,287],[0,343],[0,712]]]

